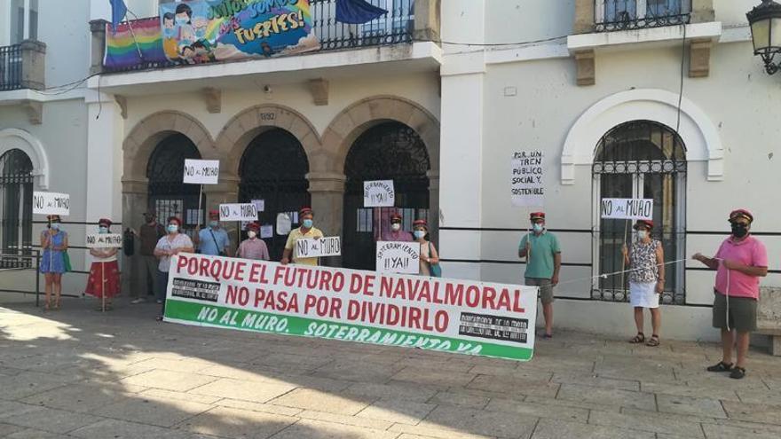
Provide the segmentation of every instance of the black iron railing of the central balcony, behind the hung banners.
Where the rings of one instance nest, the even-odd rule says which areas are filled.
[[[319,51],[338,51],[362,47],[412,43],[414,35],[415,0],[367,0],[388,13],[363,24],[347,24],[336,21],[338,0],[310,0],[312,27],[320,43]],[[148,19],[140,19],[148,20]],[[130,20],[130,26],[138,20]],[[150,68],[177,67],[181,64],[169,61],[141,61],[132,67],[103,67],[104,72],[146,70]]]

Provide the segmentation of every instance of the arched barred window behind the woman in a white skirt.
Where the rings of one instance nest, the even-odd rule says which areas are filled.
[[[652,232],[662,242],[667,261],[681,259],[685,242],[686,148],[674,129],[658,122],[633,121],[608,131],[596,145],[592,166],[596,215],[605,198],[653,199]],[[631,239],[627,220],[595,218],[595,273],[624,270],[621,246]],[[628,228],[627,228],[628,225]],[[667,265],[664,303],[683,303],[681,264]],[[620,276],[599,278],[592,296],[598,300],[626,302],[628,280]]]

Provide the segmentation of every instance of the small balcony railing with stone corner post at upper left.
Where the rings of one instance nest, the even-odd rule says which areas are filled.
[[[46,44],[25,40],[0,47],[0,91],[43,90]]]

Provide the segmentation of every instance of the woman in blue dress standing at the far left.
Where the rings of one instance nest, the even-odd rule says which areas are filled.
[[[51,293],[54,292],[54,310],[59,310],[59,294],[62,293],[62,273],[65,270],[65,252],[67,251],[67,233],[59,229],[59,215],[50,215],[49,227],[41,232],[41,272],[46,277],[46,302],[43,310],[49,310]]]

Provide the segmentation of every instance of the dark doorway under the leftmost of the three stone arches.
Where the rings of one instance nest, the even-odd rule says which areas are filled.
[[[149,179],[149,208],[154,209],[162,222],[169,216],[181,218],[183,231],[192,238],[197,224],[203,223],[206,203],[201,200],[199,211],[201,187],[182,183],[185,159],[201,159],[201,153],[189,137],[171,134],[154,148],[146,165],[146,177]]]

